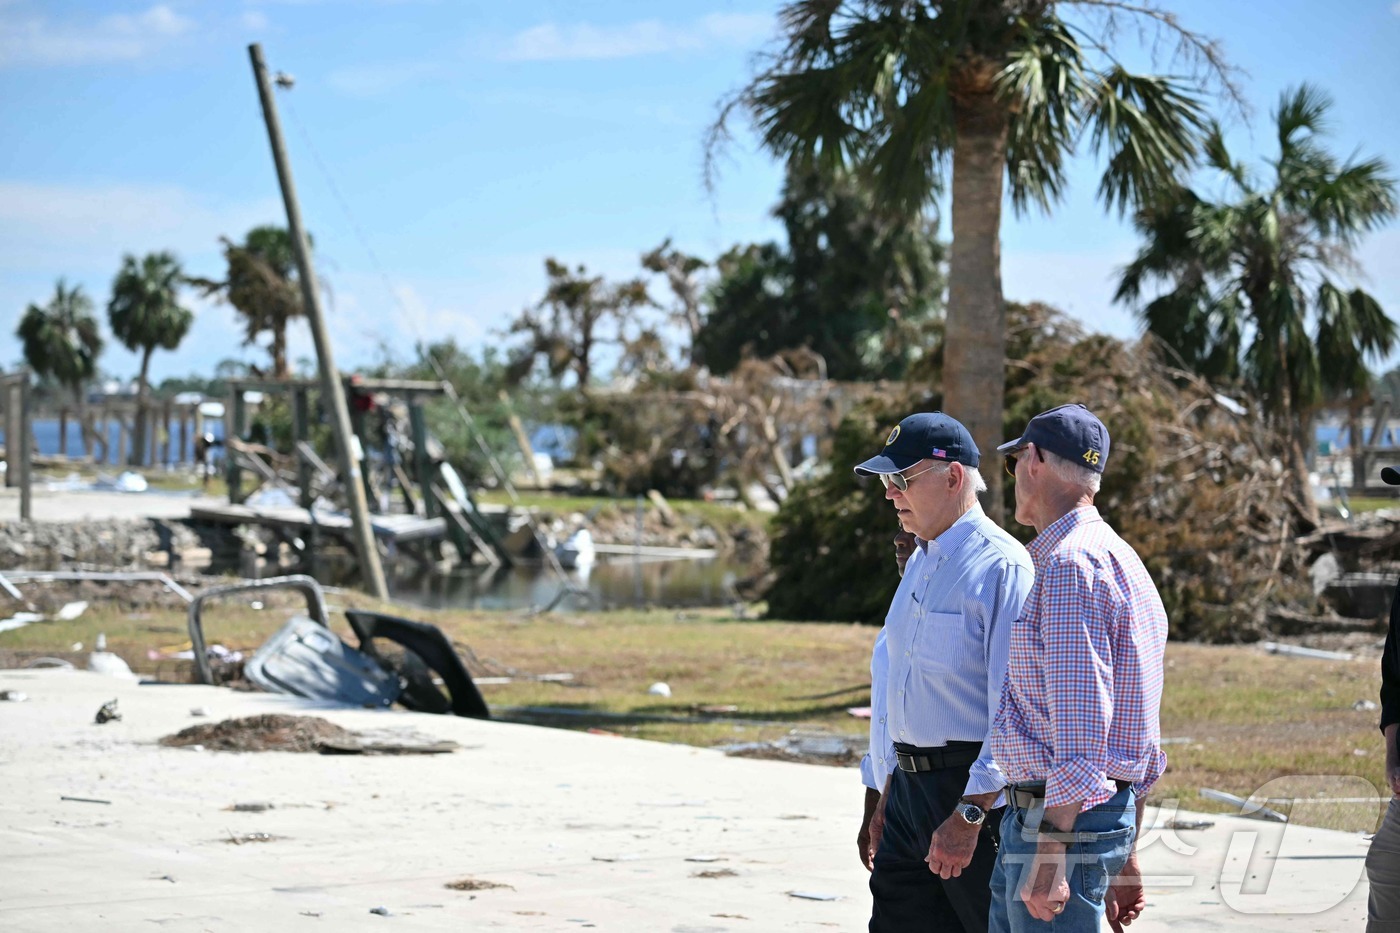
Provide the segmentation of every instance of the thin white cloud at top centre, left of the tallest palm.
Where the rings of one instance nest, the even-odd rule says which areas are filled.
[[[770,15],[739,13],[710,14],[680,25],[661,20],[609,27],[543,22],[515,34],[497,57],[504,62],[566,62],[746,46],[767,38],[773,27]]]

